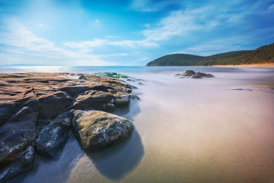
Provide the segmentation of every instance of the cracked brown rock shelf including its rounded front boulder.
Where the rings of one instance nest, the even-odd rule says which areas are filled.
[[[100,75],[81,78],[0,74],[0,182],[32,169],[35,154],[57,157],[71,129],[83,149],[91,150],[129,135],[132,122],[107,111],[139,99],[132,86]]]

